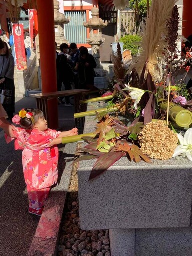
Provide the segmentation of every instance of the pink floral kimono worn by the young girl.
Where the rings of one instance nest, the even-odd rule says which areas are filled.
[[[27,185],[29,207],[44,206],[50,187],[58,178],[58,148],[49,143],[60,131],[47,129],[25,130],[17,128],[15,149],[23,149],[22,165],[24,179]]]

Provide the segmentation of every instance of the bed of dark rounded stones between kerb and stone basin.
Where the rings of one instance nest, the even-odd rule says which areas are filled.
[[[82,230],[79,223],[77,166],[73,167],[57,256],[110,256],[108,230]]]

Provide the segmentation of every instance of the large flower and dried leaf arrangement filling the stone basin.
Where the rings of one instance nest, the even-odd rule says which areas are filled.
[[[184,84],[192,52],[187,49],[181,56],[177,49],[176,2],[152,1],[142,34],[141,53],[128,68],[122,65],[117,46],[117,55],[113,57],[113,97],[110,95],[109,104],[117,107],[117,113],[133,114],[134,121],[126,126],[118,116],[95,111],[97,137],[83,137],[88,144],[79,149],[83,155],[75,160],[97,158],[89,179],[102,174],[123,156],[136,162],[141,159],[150,162],[150,158],[168,160],[185,153],[192,160],[192,100]],[[177,75],[183,70],[185,75],[178,80]]]

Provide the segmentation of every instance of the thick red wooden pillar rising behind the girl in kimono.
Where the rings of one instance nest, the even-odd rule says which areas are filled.
[[[57,91],[53,0],[37,0],[42,93]],[[48,126],[58,128],[57,99],[48,101]]]

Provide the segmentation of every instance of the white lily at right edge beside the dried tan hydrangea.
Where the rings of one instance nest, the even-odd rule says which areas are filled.
[[[176,147],[172,157],[185,153],[188,159],[192,161],[192,128],[185,132],[184,137],[181,134],[177,134],[177,136],[180,145]]]

